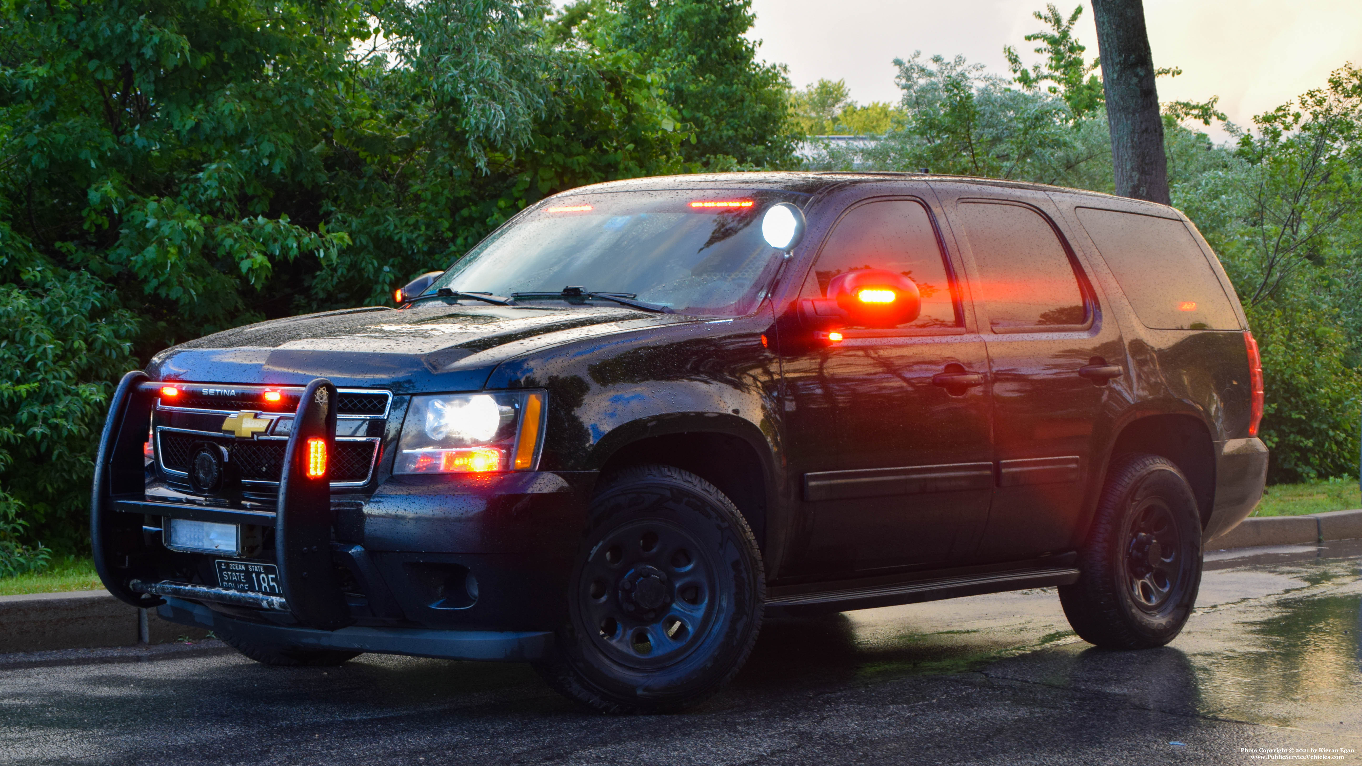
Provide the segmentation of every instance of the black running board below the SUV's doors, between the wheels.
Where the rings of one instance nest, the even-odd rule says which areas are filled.
[[[821,593],[799,593],[767,598],[767,609],[783,612],[849,612],[851,609],[873,609],[876,607],[898,607],[919,601],[959,598],[983,593],[1026,590],[1028,587],[1050,587],[1077,582],[1079,570],[1073,567],[1049,570],[1013,570],[1007,572],[977,574],[943,579],[919,579],[874,587],[829,590]]]

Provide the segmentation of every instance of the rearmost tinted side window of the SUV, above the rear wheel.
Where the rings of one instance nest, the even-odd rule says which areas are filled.
[[[1241,330],[1205,254],[1182,221],[1077,209],[1079,221],[1147,327]]]

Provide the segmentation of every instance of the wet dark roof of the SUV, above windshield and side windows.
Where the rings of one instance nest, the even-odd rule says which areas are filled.
[[[577,187],[575,189],[569,189],[563,194],[573,195],[573,194],[590,194],[602,191],[654,191],[654,189],[669,189],[669,188],[738,189],[738,188],[752,188],[752,187],[772,188],[772,189],[799,192],[799,194],[817,194],[843,184],[902,181],[902,180],[951,181],[951,183],[962,183],[962,184],[971,184],[981,187],[1001,187],[1001,188],[1015,188],[1015,189],[1076,194],[1076,195],[1086,195],[1098,199],[1105,199],[1110,202],[1120,202],[1124,204],[1152,206],[1162,210],[1170,210],[1169,206],[1159,204],[1156,202],[1130,199],[1088,189],[1056,187],[1050,184],[1036,184],[1030,181],[1008,181],[1002,179],[981,179],[977,176],[945,176],[937,173],[895,173],[895,172],[878,172],[878,170],[876,172],[805,170],[805,172],[757,172],[757,173],[696,173],[689,176],[650,176],[644,179],[627,179],[622,181],[605,181],[601,184]]]

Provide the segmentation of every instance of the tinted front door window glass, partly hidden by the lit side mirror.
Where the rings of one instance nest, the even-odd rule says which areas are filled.
[[[857,269],[885,269],[917,284],[922,313],[904,327],[960,326],[945,258],[921,203],[870,202],[843,215],[804,284],[804,297],[827,297],[834,277]]]

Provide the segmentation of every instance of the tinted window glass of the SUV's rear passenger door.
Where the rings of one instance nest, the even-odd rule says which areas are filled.
[[[979,267],[974,294],[996,328],[1083,324],[1087,308],[1073,263],[1039,213],[1019,204],[967,202],[960,218]]]

